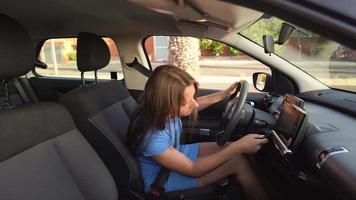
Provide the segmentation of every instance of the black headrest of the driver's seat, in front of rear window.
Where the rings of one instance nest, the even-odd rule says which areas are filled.
[[[110,51],[98,35],[81,32],[77,40],[77,65],[81,72],[94,71],[109,64]]]

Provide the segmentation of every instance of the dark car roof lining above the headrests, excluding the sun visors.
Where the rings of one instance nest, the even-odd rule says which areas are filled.
[[[99,3],[100,2],[100,3]],[[0,12],[18,20],[34,38],[135,33],[160,28],[177,31],[173,18],[123,0],[13,0],[2,1]]]

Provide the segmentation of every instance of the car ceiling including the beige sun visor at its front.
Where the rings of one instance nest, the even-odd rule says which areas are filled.
[[[230,32],[262,16],[260,12],[226,4],[213,0],[189,4],[174,0],[1,0],[0,13],[19,21],[34,39],[74,36],[81,31],[108,36],[182,34],[177,25],[182,22]],[[194,21],[201,15],[209,23]]]

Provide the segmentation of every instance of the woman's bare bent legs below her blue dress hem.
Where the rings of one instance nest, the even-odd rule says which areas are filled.
[[[199,157],[204,157],[216,153],[223,149],[216,143],[201,143],[199,148]],[[198,186],[211,185],[227,176],[234,176],[241,185],[248,199],[266,199],[265,191],[252,170],[249,162],[242,154],[237,154],[229,161],[220,165],[205,176],[198,178]]]

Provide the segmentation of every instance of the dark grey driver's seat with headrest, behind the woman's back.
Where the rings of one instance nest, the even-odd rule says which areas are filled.
[[[110,53],[104,40],[92,33],[80,33],[77,39],[77,64],[80,71],[98,70],[109,63]],[[83,63],[85,63],[83,65]],[[130,116],[136,108],[123,83],[99,82],[65,94],[60,103],[72,114],[78,129],[104,161],[122,195],[144,199],[140,166],[126,144]],[[167,199],[216,199],[224,193],[219,186],[167,192]]]

